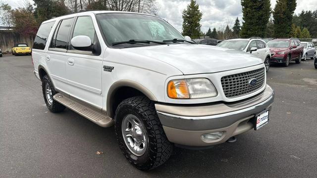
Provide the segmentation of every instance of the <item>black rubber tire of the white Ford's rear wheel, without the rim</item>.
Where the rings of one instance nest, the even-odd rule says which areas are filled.
[[[52,90],[52,96],[55,95],[57,93],[57,91],[55,91],[53,84],[51,82],[51,79],[49,78],[49,76],[45,75],[42,79],[42,91],[43,91],[43,97],[45,100],[45,104],[48,107],[48,109],[53,112],[53,113],[58,113],[58,112],[62,112],[65,109],[65,106],[60,104],[59,102],[55,101],[53,99],[52,104],[49,104],[47,98],[46,98],[46,89],[45,89],[45,85],[49,84],[51,90]]]

